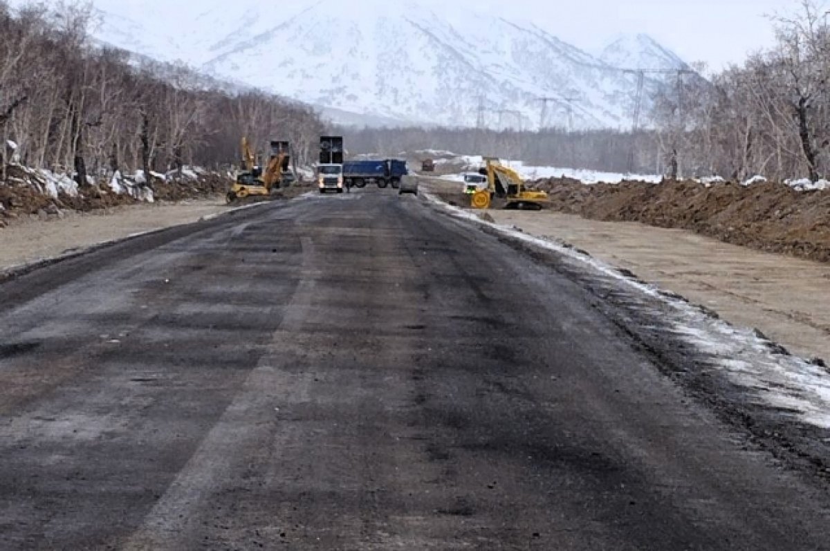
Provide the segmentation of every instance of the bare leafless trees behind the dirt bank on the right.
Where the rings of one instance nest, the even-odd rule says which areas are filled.
[[[666,85],[652,113],[670,176],[755,174],[782,180],[830,173],[830,27],[800,2],[776,17],[776,43],[709,83]]]

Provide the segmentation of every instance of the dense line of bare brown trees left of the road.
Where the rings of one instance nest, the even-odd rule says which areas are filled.
[[[22,163],[71,173],[81,185],[116,170],[234,163],[242,135],[263,150],[269,139],[289,139],[295,162],[314,158],[323,126],[309,107],[95,46],[91,22],[78,3],[12,12],[0,0],[2,179],[9,140]]]

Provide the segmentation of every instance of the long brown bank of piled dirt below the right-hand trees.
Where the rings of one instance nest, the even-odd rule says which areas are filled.
[[[681,228],[761,251],[830,261],[830,190],[799,192],[782,183],[585,185],[562,178],[533,187],[546,191],[559,212]]]

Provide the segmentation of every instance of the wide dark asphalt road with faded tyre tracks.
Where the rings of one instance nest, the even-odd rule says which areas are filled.
[[[0,549],[830,549],[583,287],[392,190],[0,285]]]

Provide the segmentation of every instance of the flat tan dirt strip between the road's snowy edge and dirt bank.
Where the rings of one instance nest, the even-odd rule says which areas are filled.
[[[559,212],[488,211],[499,224],[564,241],[642,280],[759,329],[793,354],[830,361],[830,266],[679,229]]]

